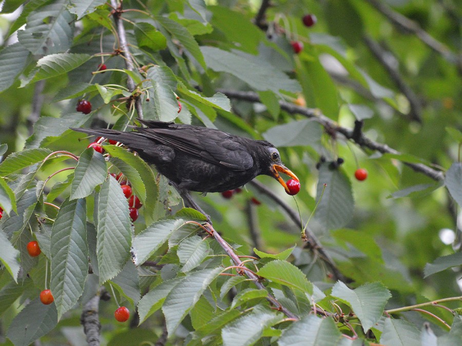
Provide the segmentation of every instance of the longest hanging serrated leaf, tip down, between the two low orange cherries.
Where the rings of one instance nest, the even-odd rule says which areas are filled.
[[[51,229],[51,293],[58,319],[83,293],[88,275],[85,199],[66,200]]]

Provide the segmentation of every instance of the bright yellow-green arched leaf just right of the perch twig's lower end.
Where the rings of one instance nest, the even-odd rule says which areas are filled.
[[[306,275],[293,264],[276,259],[266,263],[258,275],[284,286],[313,294],[313,284],[306,279]]]

